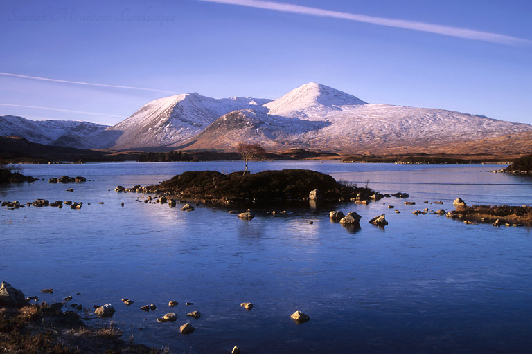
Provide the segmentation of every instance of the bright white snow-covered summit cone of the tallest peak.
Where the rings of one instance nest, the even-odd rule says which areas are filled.
[[[359,98],[329,86],[310,82],[290,91],[264,106],[269,114],[290,118],[322,120],[343,106],[366,104]]]

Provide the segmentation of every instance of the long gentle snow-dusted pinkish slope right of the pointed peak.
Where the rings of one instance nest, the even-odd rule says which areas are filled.
[[[336,151],[423,146],[452,143],[530,131],[529,124],[505,122],[443,109],[423,109],[387,104],[344,106],[330,114],[331,124],[312,137],[312,144]]]

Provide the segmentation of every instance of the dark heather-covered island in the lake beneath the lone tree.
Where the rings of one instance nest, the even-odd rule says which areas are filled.
[[[209,201],[214,204],[283,203],[310,200],[362,201],[379,198],[369,188],[337,182],[327,174],[307,169],[283,169],[244,174],[218,171],[189,171],[159,185],[145,187],[147,192],[170,198]],[[314,195],[311,191],[317,190]]]

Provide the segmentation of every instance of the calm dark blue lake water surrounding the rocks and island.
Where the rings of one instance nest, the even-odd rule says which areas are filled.
[[[46,301],[73,295],[71,302],[87,308],[110,302],[125,336],[175,353],[229,353],[236,344],[244,353],[530,352],[532,230],[411,211],[453,209],[458,196],[468,204],[530,204],[531,179],[488,172],[500,165],[251,163],[252,171],[314,169],[383,193],[407,192],[416,202],[392,197],[338,205],[362,215],[360,230],[330,223],[320,207],[288,209],[283,217],[259,210],[242,221],[227,209],[181,212],[139,203],[142,194],[114,192],[116,185],[158,183],[183,171],[229,173],[242,166],[24,165],[24,174],[38,178],[94,181],[0,185],[0,201],[84,203],[80,211],[2,207],[0,279]],[[379,214],[389,221],[385,230],[367,223]],[[40,294],[43,288],[55,293]],[[134,304],[122,304],[124,297]],[[179,305],[169,308],[170,300]],[[243,301],[253,302],[253,310],[241,308]],[[157,310],[139,310],[151,303]],[[202,317],[186,317],[193,310]],[[310,322],[294,324],[295,310]],[[177,322],[156,322],[170,311]],[[185,322],[196,328],[191,335],[179,333]]]

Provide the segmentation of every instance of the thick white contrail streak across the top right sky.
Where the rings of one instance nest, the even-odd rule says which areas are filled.
[[[248,6],[251,8],[263,8],[266,10],[276,10],[281,12],[292,12],[301,15],[313,15],[321,17],[335,17],[337,19],[348,19],[351,21],[366,22],[380,26],[389,26],[396,28],[405,28],[409,30],[418,30],[421,32],[436,33],[450,37],[459,37],[464,39],[474,39],[477,41],[488,41],[499,44],[531,44],[529,39],[499,35],[497,33],[482,32],[470,30],[468,28],[443,26],[438,24],[428,24],[426,22],[408,21],[403,19],[389,19],[386,17],[373,17],[366,15],[353,14],[351,12],[339,12],[325,10],[321,8],[311,8],[309,6],[294,5],[290,3],[278,3],[274,1],[262,0],[199,0],[210,3],[226,3],[230,5]]]

